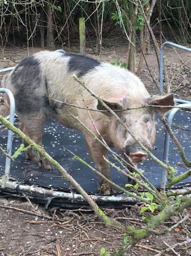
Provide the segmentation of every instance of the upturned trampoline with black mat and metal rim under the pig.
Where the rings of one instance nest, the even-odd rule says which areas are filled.
[[[167,44],[166,42],[165,44]],[[172,44],[172,43],[171,43]],[[188,48],[189,49],[189,48]],[[5,71],[5,69],[3,70]],[[162,87],[160,87],[160,91]],[[4,89],[1,92],[7,93]],[[189,101],[176,100],[177,103],[186,104],[187,108],[191,106]],[[189,159],[191,155],[191,113],[185,112],[179,109],[173,109],[168,117],[168,122],[171,123],[172,130],[185,148],[186,156]],[[14,112],[14,109],[12,110]],[[177,112],[177,113],[176,113]],[[176,113],[175,117],[173,115]],[[10,121],[12,113],[10,113]],[[169,139],[168,134],[165,133],[161,117],[156,115],[156,141],[152,153],[165,162],[169,162],[176,169],[176,175],[186,171],[184,166],[181,166],[181,158],[176,149],[174,142]],[[3,125],[0,126],[0,145],[6,150],[7,147],[7,130]],[[10,138],[9,138],[10,140]],[[9,144],[10,143],[10,144]],[[12,146],[11,141],[8,142],[9,154],[12,151],[15,152],[22,143],[21,139],[13,134]],[[100,207],[112,207],[112,208],[124,208],[129,204],[138,203],[133,197],[129,197],[116,191],[114,195],[103,196],[99,194],[97,185],[99,183],[99,177],[94,174],[88,167],[79,163],[73,156],[65,150],[68,148],[80,158],[86,160],[92,166],[90,156],[88,155],[87,147],[84,141],[84,135],[77,130],[69,129],[59,123],[49,120],[44,128],[43,144],[45,150],[65,168],[71,176],[82,186],[82,188],[88,192],[96,200],[96,203]],[[64,148],[65,147],[65,148]],[[168,150],[169,148],[169,150]],[[120,154],[120,153],[118,153]],[[110,160],[113,161],[111,156]],[[8,163],[7,163],[8,162]],[[10,164],[10,174],[7,170],[7,166]],[[138,165],[144,171],[144,175],[147,179],[155,185],[156,188],[162,188],[165,183],[166,175],[158,164],[154,160],[147,158],[145,162]],[[7,179],[9,174],[9,179]],[[111,177],[114,183],[125,187],[128,183],[126,176],[120,174],[114,168],[111,167]],[[173,189],[185,188],[191,186],[191,177],[184,180],[184,183],[176,184]],[[46,171],[43,168],[37,166],[24,158],[24,153],[19,155],[14,162],[10,163],[10,159],[6,159],[2,154],[0,155],[0,191],[4,194],[15,193],[22,195],[24,193],[38,203],[43,203],[45,208],[48,207],[63,207],[63,208],[79,208],[88,207],[88,204],[81,195],[71,187],[71,184],[67,182],[61,176],[60,172],[53,168],[52,171]]]

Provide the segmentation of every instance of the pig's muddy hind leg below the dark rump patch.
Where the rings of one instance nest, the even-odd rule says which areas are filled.
[[[46,122],[46,115],[44,113],[39,113],[36,115],[29,115],[27,119],[22,119],[20,123],[20,130],[23,131],[33,142],[42,146],[43,138],[43,129]],[[52,167],[50,164],[46,163],[46,160],[43,159],[39,152],[33,148],[25,151],[27,159],[36,162],[39,166],[43,166],[46,170],[51,170]]]

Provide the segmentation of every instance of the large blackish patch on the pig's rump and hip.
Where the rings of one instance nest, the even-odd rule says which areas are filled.
[[[33,56],[22,60],[14,69],[11,82],[15,88],[16,110],[21,114],[37,113],[49,102],[43,91],[40,63]]]

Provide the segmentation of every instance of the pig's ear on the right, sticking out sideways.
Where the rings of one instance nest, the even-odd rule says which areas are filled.
[[[163,96],[153,96],[148,100],[148,105],[155,105],[155,106],[174,106],[175,101],[173,100],[173,93],[166,94]],[[164,115],[165,112],[171,110],[172,108],[154,108],[160,115]]]

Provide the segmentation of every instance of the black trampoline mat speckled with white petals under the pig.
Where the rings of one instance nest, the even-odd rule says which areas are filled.
[[[190,126],[191,114],[180,111],[175,115],[173,119],[172,129],[175,132],[177,138],[180,140],[182,146],[185,148],[186,156],[190,159],[191,143],[190,143]],[[154,144],[153,154],[160,160],[163,159],[163,147],[164,147],[164,126],[161,122],[161,118],[156,116],[156,141]],[[45,150],[55,160],[57,160],[63,168],[65,168],[71,176],[87,191],[90,193],[99,193],[97,185],[99,183],[99,177],[89,170],[86,166],[79,163],[73,156],[67,152],[63,147],[68,148],[75,154],[86,160],[92,166],[94,163],[91,161],[87,151],[87,147],[84,141],[84,135],[77,130],[69,129],[60,125],[54,121],[46,123],[44,129],[43,143]],[[0,144],[6,149],[7,143],[7,131],[2,131],[0,134]],[[22,143],[21,139],[14,135],[12,152],[19,147]],[[112,160],[110,156],[110,160]],[[181,158],[177,151],[176,145],[171,141],[169,164],[171,164],[177,170],[177,174],[181,174],[186,171],[185,167],[176,165],[181,162]],[[148,158],[145,162],[138,165],[139,168],[145,171],[145,176],[151,181],[155,187],[160,187],[160,181],[162,176],[162,168],[156,164],[152,159]],[[5,156],[0,155],[0,174],[5,171]],[[52,171],[46,171],[43,168],[37,166],[36,163],[30,162],[24,158],[24,153],[20,155],[15,162],[11,163],[10,176],[15,179],[22,180],[26,184],[40,185],[42,187],[57,188],[67,191],[71,187],[60,172],[53,168]],[[111,168],[112,181],[125,187],[128,183],[126,177],[117,172],[114,168]],[[191,178],[184,180],[186,183],[191,182]]]

